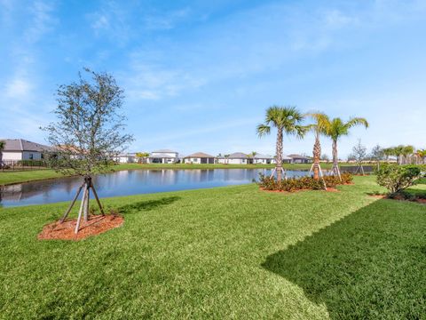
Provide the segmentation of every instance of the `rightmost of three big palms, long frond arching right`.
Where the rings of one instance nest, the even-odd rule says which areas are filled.
[[[335,175],[340,177],[340,169],[339,169],[339,160],[337,155],[337,142],[343,136],[349,135],[350,129],[355,125],[364,125],[366,129],[368,128],[368,122],[365,118],[362,117],[354,117],[349,119],[347,122],[343,122],[343,120],[339,117],[334,118],[331,121],[328,121],[325,124],[326,135],[333,141],[333,168],[332,172]]]

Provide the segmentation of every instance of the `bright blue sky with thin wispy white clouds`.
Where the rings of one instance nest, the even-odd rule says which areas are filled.
[[[90,67],[125,90],[130,151],[273,155],[256,137],[273,104],[367,117],[343,157],[358,139],[426,148],[424,35],[424,0],[0,0],[0,136],[43,142],[57,86]]]

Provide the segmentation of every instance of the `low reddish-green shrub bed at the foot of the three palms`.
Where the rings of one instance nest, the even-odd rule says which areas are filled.
[[[343,173],[342,180],[335,176],[325,176],[327,188],[335,188],[337,185],[348,184],[353,180],[351,173]],[[290,178],[288,180],[281,180],[280,182],[274,177],[268,177],[260,174],[259,182],[257,183],[260,188],[268,191],[287,191],[295,192],[298,190],[323,190],[323,180],[315,180],[312,177],[303,178]]]

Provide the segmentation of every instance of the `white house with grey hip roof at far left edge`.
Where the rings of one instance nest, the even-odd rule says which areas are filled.
[[[23,139],[0,139],[5,142],[3,161],[43,160],[51,147]]]

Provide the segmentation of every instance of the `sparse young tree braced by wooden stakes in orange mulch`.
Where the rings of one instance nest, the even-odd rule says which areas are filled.
[[[84,72],[88,79],[79,73],[77,82],[59,86],[58,106],[54,110],[57,121],[43,128],[48,133],[47,140],[55,148],[54,154],[49,157],[51,166],[58,172],[83,177],[83,185],[60,220],[63,222],[67,218],[83,189],[75,233],[78,232],[82,212],[83,219],[89,220],[91,190],[103,213],[92,175],[105,170],[110,160],[133,140],[124,132],[125,116],[121,113],[123,91],[114,77],[89,68],[84,68]]]

